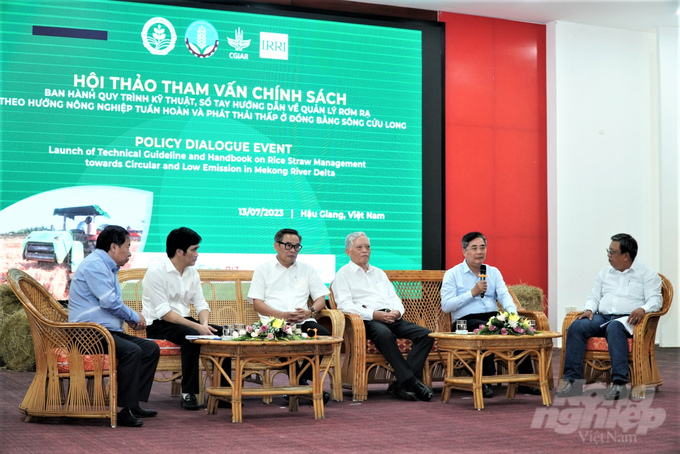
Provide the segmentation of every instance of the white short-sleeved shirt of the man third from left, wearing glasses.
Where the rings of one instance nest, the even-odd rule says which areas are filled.
[[[316,301],[329,293],[312,265],[296,260],[286,268],[274,257],[255,268],[248,301],[252,304],[253,299],[258,299],[274,310],[292,312],[297,308],[307,309],[310,295]],[[260,314],[260,319],[267,318]]]

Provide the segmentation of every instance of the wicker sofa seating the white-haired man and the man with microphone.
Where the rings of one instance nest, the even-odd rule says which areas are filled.
[[[404,304],[404,319],[431,331],[451,331],[451,315],[441,309],[441,285],[445,271],[385,271],[385,273]],[[536,320],[537,330],[549,330],[548,318],[543,312],[523,310],[517,297],[512,292],[510,294],[520,315]],[[337,308],[332,292],[330,307]],[[344,316],[345,357],[342,364],[342,383],[345,388],[352,389],[354,401],[364,401],[368,398],[369,383],[391,382],[393,370],[373,341],[366,339],[366,330],[361,317],[349,313],[345,313]],[[411,351],[411,341],[398,339],[397,343],[404,356],[407,356]],[[445,364],[435,342],[423,367],[423,382],[431,387],[433,381],[443,380],[445,372]],[[550,381],[552,383],[552,377]]]

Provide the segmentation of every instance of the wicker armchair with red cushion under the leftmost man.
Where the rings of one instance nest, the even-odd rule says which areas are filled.
[[[7,273],[33,336],[36,372],[19,409],[33,416],[105,418],[116,427],[116,350],[97,323],[69,323],[66,311],[35,279]]]

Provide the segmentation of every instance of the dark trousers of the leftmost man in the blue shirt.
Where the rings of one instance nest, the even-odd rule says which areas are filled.
[[[118,406],[135,408],[148,402],[161,351],[155,342],[111,331],[118,362]]]

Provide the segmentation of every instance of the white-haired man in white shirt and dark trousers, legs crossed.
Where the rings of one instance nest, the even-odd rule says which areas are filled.
[[[371,242],[364,232],[354,232],[345,239],[350,262],[340,268],[333,281],[333,296],[338,309],[358,314],[366,326],[366,338],[394,369],[396,380],[387,392],[404,400],[429,401],[433,393],[421,380],[423,365],[432,350],[431,331],[402,318],[404,305],[387,275],[368,264]],[[411,339],[413,348],[404,359],[397,338]]]

